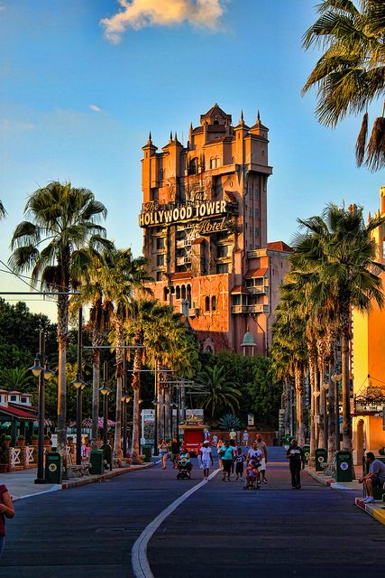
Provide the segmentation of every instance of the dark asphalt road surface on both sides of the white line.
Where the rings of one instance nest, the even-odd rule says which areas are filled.
[[[353,506],[353,492],[303,474],[292,490],[280,448],[260,492],[221,476],[197,489],[151,537],[155,578],[354,578],[382,575],[385,531]],[[0,576],[133,576],[133,543],[160,511],[200,481],[137,471],[15,503]],[[198,480],[199,478],[199,480]]]

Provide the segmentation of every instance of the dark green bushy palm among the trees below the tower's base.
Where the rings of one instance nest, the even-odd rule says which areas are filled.
[[[230,409],[234,414],[235,409],[239,408],[239,399],[242,394],[225,376],[224,366],[218,364],[212,368],[207,366],[198,373],[196,383],[208,391],[202,401],[202,407],[210,413],[211,417],[226,409]]]

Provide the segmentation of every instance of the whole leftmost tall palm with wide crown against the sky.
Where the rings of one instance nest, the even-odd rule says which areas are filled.
[[[97,221],[106,209],[87,189],[50,182],[30,195],[24,214],[31,220],[15,228],[9,263],[18,273],[31,272],[33,286],[58,294],[58,449],[65,458],[69,291],[89,264],[90,248],[104,247],[105,228]]]

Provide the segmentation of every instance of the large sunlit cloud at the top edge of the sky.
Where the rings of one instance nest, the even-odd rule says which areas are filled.
[[[215,30],[228,0],[117,0],[121,5],[111,18],[101,20],[105,37],[114,43],[122,40],[127,28],[139,30],[154,24],[193,26]]]

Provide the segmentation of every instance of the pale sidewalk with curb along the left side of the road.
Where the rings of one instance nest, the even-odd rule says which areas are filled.
[[[152,468],[154,465],[155,462],[151,462],[138,466],[115,468],[113,471],[105,471],[105,473],[101,475],[63,480],[61,484],[35,484],[34,480],[37,475],[37,470],[21,470],[2,475],[1,482],[9,489],[12,499],[16,501],[17,499],[31,498],[50,491],[78,488],[78,486],[85,486],[96,483],[97,481],[109,480],[110,478],[115,478],[115,476],[120,476],[129,471],[146,470],[147,468]]]

